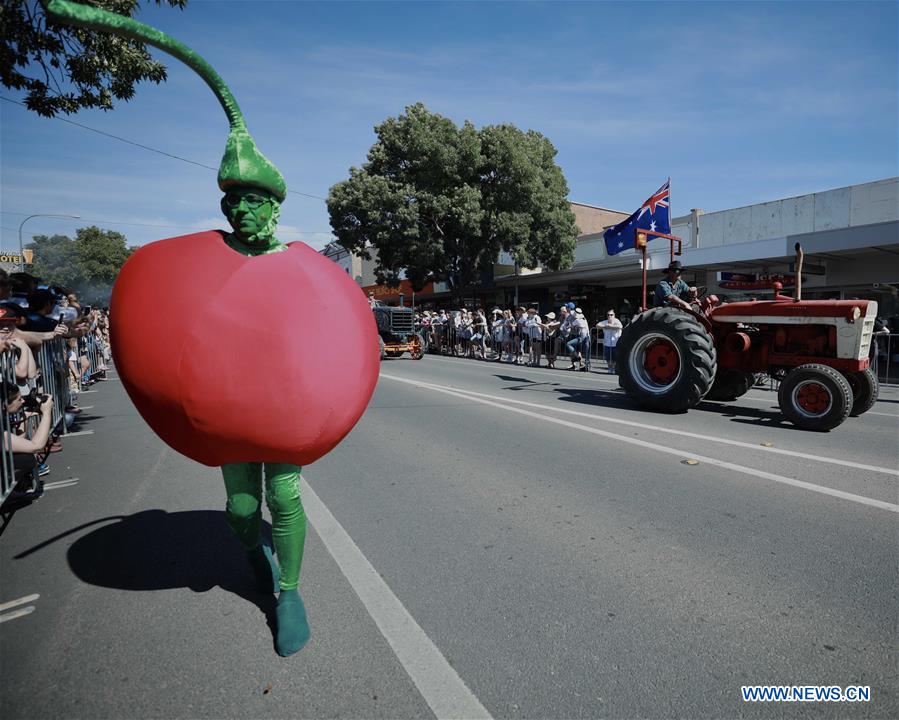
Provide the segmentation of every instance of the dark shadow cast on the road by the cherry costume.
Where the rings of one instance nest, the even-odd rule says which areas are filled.
[[[259,608],[272,632],[274,648],[275,596],[256,590],[243,547],[222,511],[145,510],[100,518],[25,550],[16,559],[99,523],[107,524],[82,535],[68,549],[69,567],[80,580],[136,592],[177,588],[207,592],[220,587]],[[267,522],[263,522],[263,535],[271,541]]]

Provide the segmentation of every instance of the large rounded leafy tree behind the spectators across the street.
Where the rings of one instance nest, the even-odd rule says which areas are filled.
[[[340,244],[368,259],[379,283],[401,274],[420,290],[446,281],[456,297],[501,251],[522,267],[574,260],[577,226],[556,149],[513,125],[476,130],[421,103],[375,127],[368,161],[328,194]]]

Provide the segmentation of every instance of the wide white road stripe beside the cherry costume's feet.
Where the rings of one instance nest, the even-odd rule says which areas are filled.
[[[315,531],[434,715],[447,719],[489,720],[490,713],[415,622],[305,478],[302,493],[306,513]]]

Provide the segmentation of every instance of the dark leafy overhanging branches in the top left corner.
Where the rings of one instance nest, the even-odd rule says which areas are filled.
[[[83,0],[86,5],[132,16],[138,0]],[[155,0],[183,8],[187,0]],[[112,110],[113,99],[130,100],[138,82],[160,83],[165,66],[145,45],[109,33],[62,25],[49,19],[37,0],[0,4],[0,82],[27,90],[25,105],[38,115],[82,108]]]

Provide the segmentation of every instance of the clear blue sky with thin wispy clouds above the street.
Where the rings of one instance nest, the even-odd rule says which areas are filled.
[[[707,211],[892,177],[897,3],[316,3],[191,0],[139,19],[231,86],[291,190],[326,196],[373,127],[414,102],[552,140],[569,198],[632,212],[666,177],[672,211]],[[212,93],[169,79],[70,119],[217,167]],[[0,89],[5,97],[20,95]],[[223,227],[215,174],[0,102],[2,248],[96,224],[130,244]],[[291,194],[282,239],[329,239],[323,201]]]

